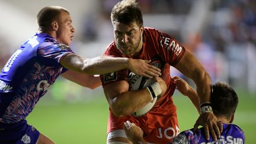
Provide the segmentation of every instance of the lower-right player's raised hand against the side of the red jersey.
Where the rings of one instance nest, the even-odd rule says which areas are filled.
[[[183,95],[188,95],[188,91],[190,89],[190,86],[184,79],[180,78],[179,76],[173,76],[172,79],[176,81],[176,88],[178,91],[181,92]]]

